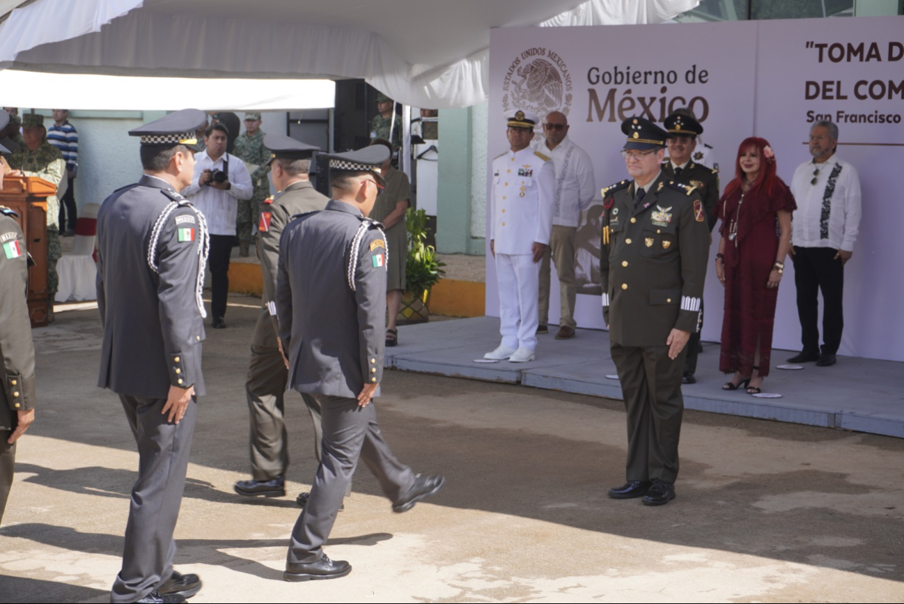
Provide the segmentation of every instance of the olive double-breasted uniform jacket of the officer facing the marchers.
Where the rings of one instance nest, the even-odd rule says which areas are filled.
[[[697,331],[706,216],[696,191],[662,173],[637,208],[634,191],[631,181],[603,189],[603,318],[615,344],[664,346],[672,329]]]

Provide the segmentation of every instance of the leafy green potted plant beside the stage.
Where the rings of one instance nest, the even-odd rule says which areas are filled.
[[[405,293],[397,321],[401,324],[428,321],[430,288],[446,274],[445,262],[438,260],[437,250],[427,245],[427,212],[408,209],[405,213],[408,231],[408,257],[405,263]]]

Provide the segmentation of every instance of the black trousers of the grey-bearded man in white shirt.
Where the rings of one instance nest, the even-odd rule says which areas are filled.
[[[819,302],[823,292],[823,354],[837,354],[842,344],[844,311],[844,265],[835,259],[834,248],[794,248],[794,282],[797,287],[797,316],[800,317],[800,340],[804,350],[818,353]]]

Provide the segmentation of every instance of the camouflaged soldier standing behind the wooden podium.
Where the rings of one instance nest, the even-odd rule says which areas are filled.
[[[24,145],[9,156],[7,161],[10,167],[24,176],[37,176],[59,187],[66,174],[66,162],[63,161],[60,149],[47,142],[44,117],[28,113],[22,121]],[[47,290],[51,308],[59,283],[56,262],[60,260],[62,253],[59,217],[60,200],[56,195],[51,195],[47,198]],[[52,310],[49,316],[53,320]]]

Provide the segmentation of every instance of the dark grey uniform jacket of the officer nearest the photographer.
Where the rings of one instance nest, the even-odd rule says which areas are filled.
[[[98,385],[119,394],[165,399],[171,385],[204,393],[198,284],[207,231],[169,187],[144,175],[98,212]]]

